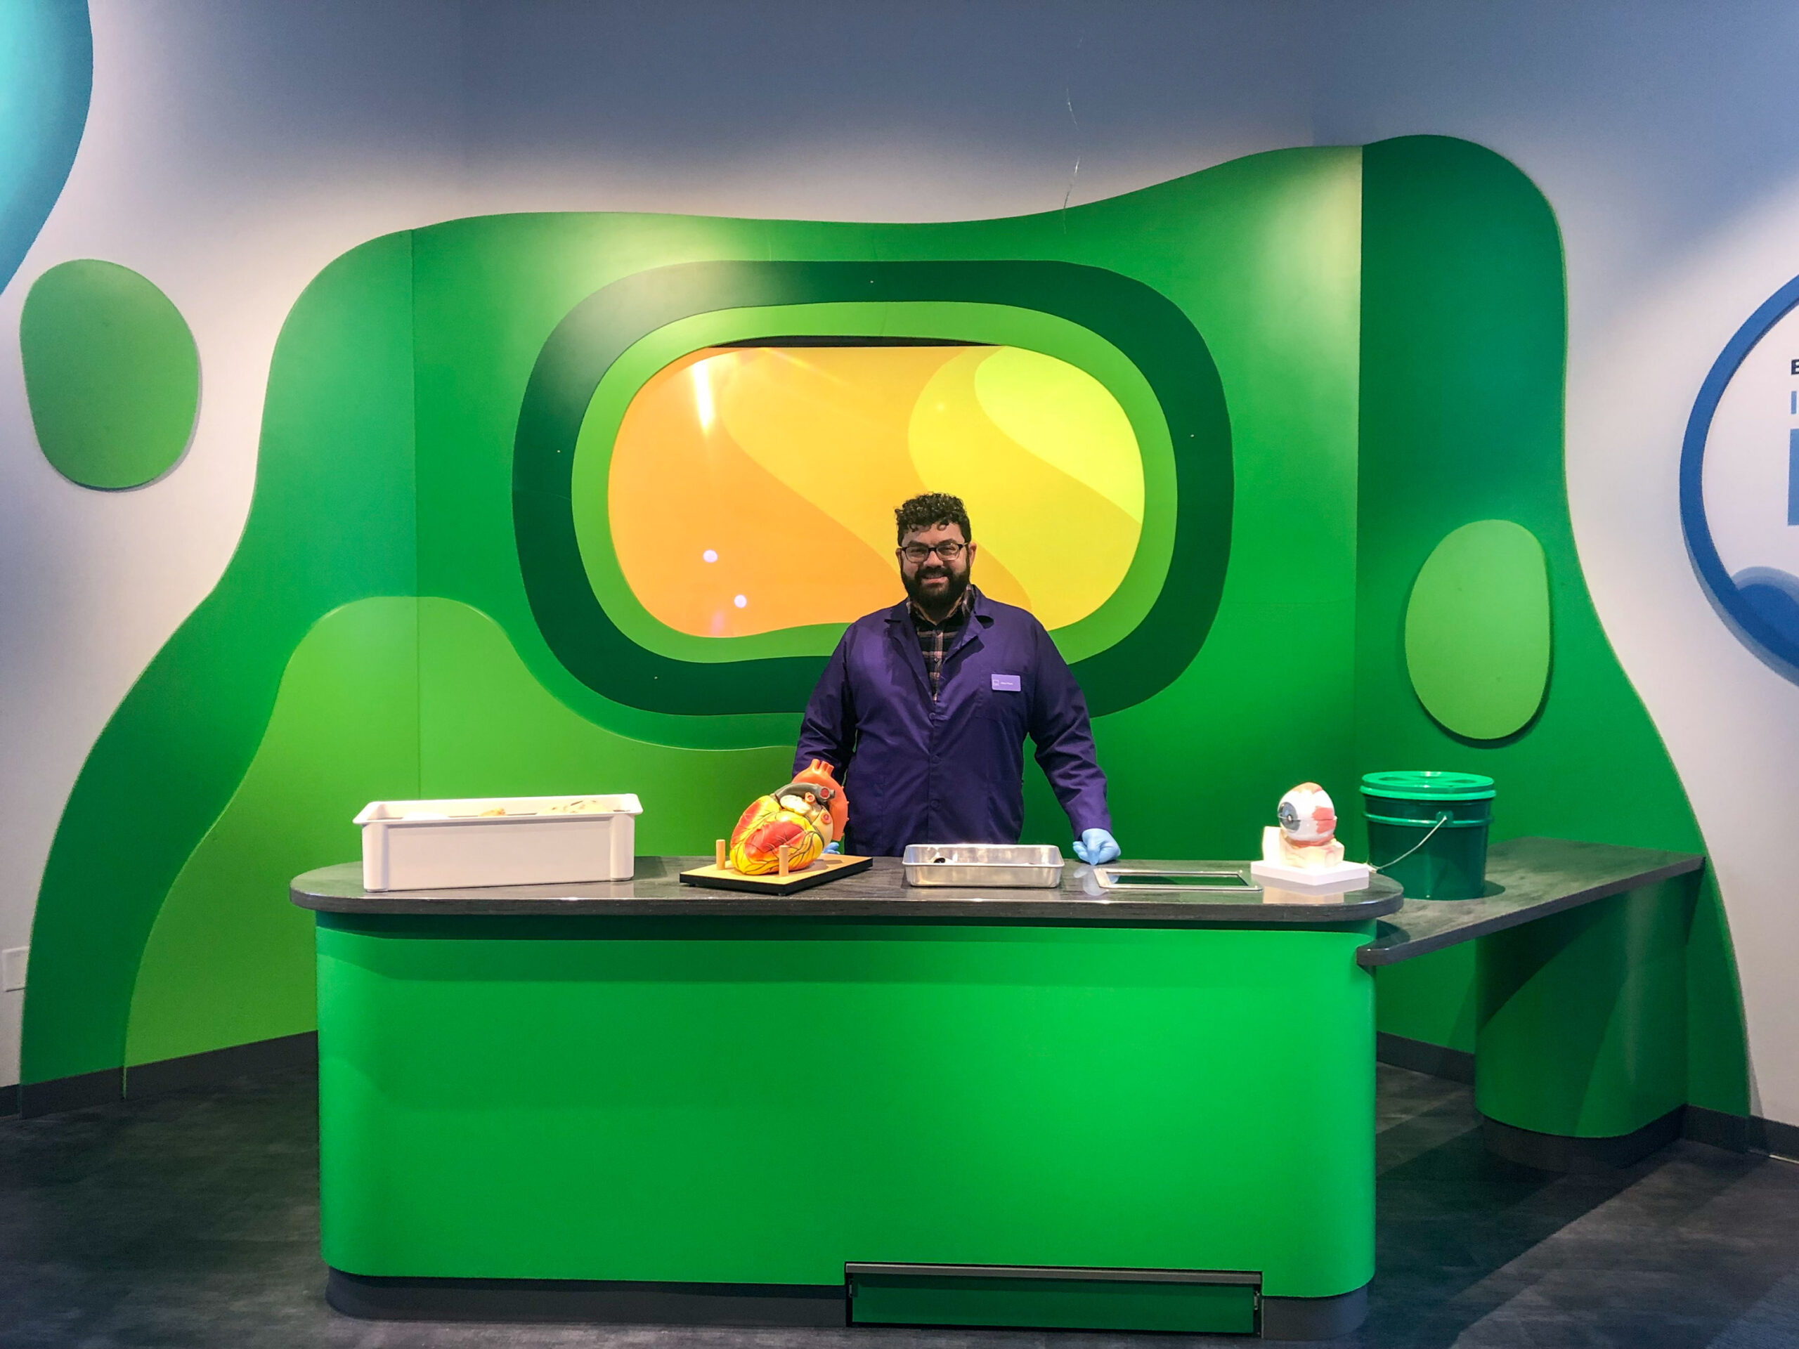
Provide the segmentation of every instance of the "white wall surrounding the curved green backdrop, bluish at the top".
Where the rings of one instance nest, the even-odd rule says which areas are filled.
[[[94,27],[86,140],[0,295],[0,946],[88,745],[223,568],[275,331],[351,245],[489,210],[1018,214],[1428,131],[1508,155],[1560,214],[1583,563],[1723,880],[1758,1110],[1799,1122],[1799,905],[1761,856],[1799,817],[1799,689],[1711,613],[1675,511],[1700,378],[1799,273],[1799,11],[95,0]],[[164,286],[200,344],[194,448],[135,493],[58,478],[23,408],[23,291],[83,255]],[[0,1081],[16,1045],[0,995]]]

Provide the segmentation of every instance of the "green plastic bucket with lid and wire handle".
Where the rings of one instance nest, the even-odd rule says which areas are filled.
[[[1414,899],[1486,890],[1493,779],[1479,773],[1364,773],[1367,860]]]

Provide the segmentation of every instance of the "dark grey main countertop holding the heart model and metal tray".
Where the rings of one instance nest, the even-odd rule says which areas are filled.
[[[1400,887],[1376,876],[1371,889],[1347,894],[1304,896],[1290,890],[1249,892],[1241,898],[1209,894],[1106,894],[1092,869],[1070,862],[1056,890],[912,889],[900,858],[876,858],[874,867],[829,885],[792,896],[739,894],[682,885],[680,874],[711,858],[637,858],[630,881],[579,885],[495,885],[475,890],[363,890],[354,862],[320,867],[293,880],[293,903],[327,914],[579,914],[579,916],[779,916],[883,919],[1036,919],[1051,923],[1367,923],[1400,908]],[[1205,862],[1130,862],[1132,867],[1198,869]]]

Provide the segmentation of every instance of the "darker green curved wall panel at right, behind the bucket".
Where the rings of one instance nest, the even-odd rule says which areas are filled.
[[[1446,137],[1383,140],[1362,169],[1356,768],[1499,784],[1493,838],[1704,851],[1655,725],[1599,626],[1563,478],[1562,236],[1536,185]],[[1437,541],[1513,520],[1549,567],[1554,682],[1536,719],[1479,743],[1439,727],[1405,669],[1405,603]],[[1619,784],[1632,809],[1612,802]],[[1342,800],[1342,797],[1338,797]],[[1355,847],[1358,820],[1346,822]],[[1736,964],[1711,869],[1687,935],[1687,1101],[1749,1110]],[[1473,944],[1383,969],[1380,1027],[1473,1049]]]

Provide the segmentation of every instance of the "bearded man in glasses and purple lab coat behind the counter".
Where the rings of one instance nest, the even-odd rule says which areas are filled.
[[[894,511],[907,599],[849,624],[801,723],[795,772],[840,770],[844,849],[892,856],[907,844],[1016,844],[1024,737],[1036,743],[1081,862],[1119,854],[1087,700],[1031,613],[968,583],[968,511],[926,493]]]

